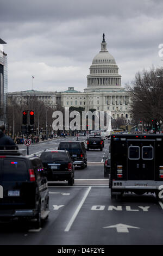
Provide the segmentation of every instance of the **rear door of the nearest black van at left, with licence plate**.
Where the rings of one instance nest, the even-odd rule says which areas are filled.
[[[35,182],[30,182],[29,168],[25,159],[2,159],[0,183],[3,199],[0,210],[30,209],[35,206]]]

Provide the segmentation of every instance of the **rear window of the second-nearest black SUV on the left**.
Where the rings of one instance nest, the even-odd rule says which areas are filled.
[[[65,152],[43,152],[40,156],[42,161],[68,161]]]

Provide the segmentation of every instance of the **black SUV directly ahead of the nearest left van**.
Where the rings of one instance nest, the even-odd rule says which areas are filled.
[[[45,150],[40,158],[49,181],[68,180],[68,185],[74,184],[74,166],[67,150]]]

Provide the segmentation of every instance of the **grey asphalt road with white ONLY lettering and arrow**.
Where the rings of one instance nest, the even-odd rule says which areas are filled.
[[[57,149],[62,140],[32,145],[29,153],[39,155],[46,148]],[[88,166],[76,168],[74,186],[67,182],[49,184],[51,212],[41,229],[17,220],[0,223],[0,244],[162,245],[163,204],[153,194],[126,194],[121,200],[111,200],[103,169],[103,156],[108,151],[106,140],[103,151],[87,151]]]

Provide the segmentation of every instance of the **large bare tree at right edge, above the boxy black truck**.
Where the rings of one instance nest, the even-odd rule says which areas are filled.
[[[127,90],[131,94],[131,113],[135,124],[140,120],[152,123],[152,119],[163,119],[162,68],[138,72],[131,85],[127,85]]]

